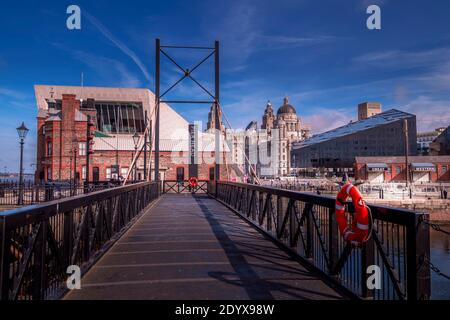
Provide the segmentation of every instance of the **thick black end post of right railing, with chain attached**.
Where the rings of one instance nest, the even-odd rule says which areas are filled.
[[[428,214],[415,214],[406,228],[406,279],[407,299],[427,300],[431,295],[430,267],[430,230]]]

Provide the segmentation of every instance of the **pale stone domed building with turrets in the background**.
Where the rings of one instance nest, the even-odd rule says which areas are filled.
[[[275,137],[274,129],[276,129],[278,143],[278,155],[279,159],[275,165],[271,163],[270,169],[273,171],[273,175],[283,176],[291,172],[291,150],[292,143],[303,141],[309,136],[309,129],[302,125],[300,118],[297,115],[295,107],[289,103],[288,97],[284,98],[283,105],[278,108],[277,114],[273,112],[272,104],[267,102],[266,109],[263,115],[263,122],[261,129],[267,132],[267,136]],[[265,175],[264,166],[261,166],[261,175]]]

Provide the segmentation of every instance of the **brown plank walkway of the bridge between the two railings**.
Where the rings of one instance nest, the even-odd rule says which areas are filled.
[[[340,299],[205,195],[167,194],[66,299]]]

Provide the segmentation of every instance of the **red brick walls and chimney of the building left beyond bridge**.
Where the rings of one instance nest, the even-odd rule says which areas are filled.
[[[37,146],[37,178],[39,172],[45,172],[45,180],[47,177],[47,168],[52,169],[53,180],[69,180],[74,178],[74,150],[76,149],[76,172],[82,177],[82,167],[86,164],[86,156],[79,154],[79,143],[86,143],[86,121],[75,121],[76,110],[80,110],[80,102],[76,100],[75,95],[66,95],[62,97],[61,121],[48,121],[38,118],[38,146]],[[95,109],[81,109],[84,114],[92,116],[92,122],[95,120]],[[42,134],[42,128],[45,127],[45,135]],[[39,131],[39,128],[40,131]],[[91,127],[94,132],[95,127]],[[52,155],[46,155],[46,143],[52,142]],[[93,168],[99,169],[99,180],[106,180],[106,168],[110,168],[117,162],[119,164],[119,174],[121,168],[129,168],[133,159],[134,151],[95,151],[90,156],[89,180],[93,180]],[[189,179],[188,152],[160,152],[160,171],[165,173],[166,180],[176,179],[176,168],[183,167],[185,179]],[[118,160],[117,160],[118,158]],[[222,153],[222,162],[225,163],[225,153]],[[150,161],[150,153],[147,157],[147,163]],[[199,155],[198,179],[209,180],[209,170],[214,167],[214,152],[203,152]],[[141,154],[138,160],[138,169],[143,168],[144,155]],[[154,159],[152,161],[154,163]],[[152,168],[154,168],[152,164]],[[229,173],[231,166],[228,167]],[[225,164],[221,165],[221,179],[227,179],[227,168]],[[130,176],[131,179],[131,176]]]

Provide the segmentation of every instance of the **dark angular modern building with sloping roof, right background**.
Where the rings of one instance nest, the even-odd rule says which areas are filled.
[[[416,155],[416,116],[391,109],[294,143],[292,159],[297,168],[353,171],[355,157],[404,155],[404,120],[409,155]]]

